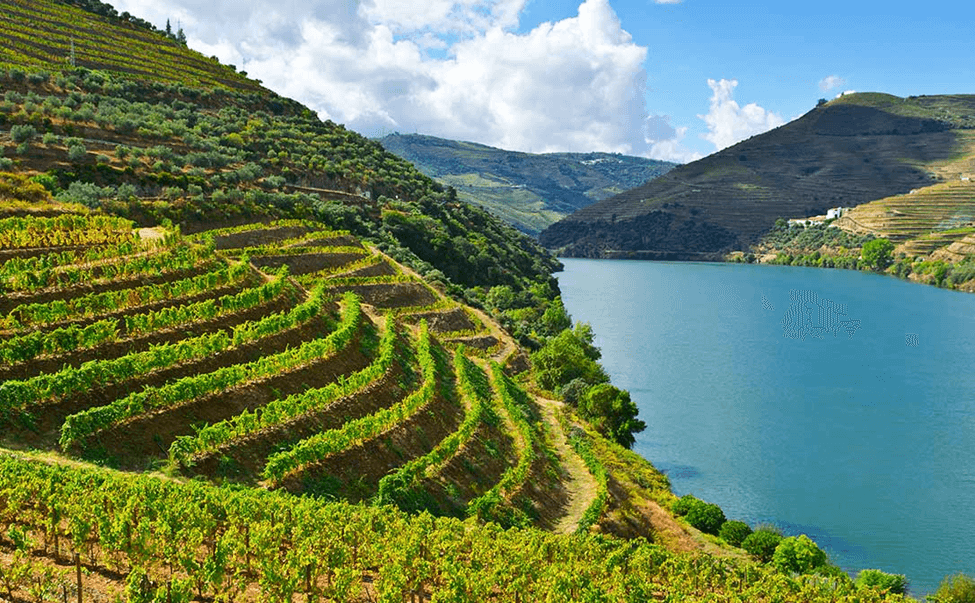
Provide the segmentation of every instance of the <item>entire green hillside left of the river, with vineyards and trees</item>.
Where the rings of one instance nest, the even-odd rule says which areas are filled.
[[[74,4],[0,17],[0,596],[901,600],[678,501],[531,239]]]

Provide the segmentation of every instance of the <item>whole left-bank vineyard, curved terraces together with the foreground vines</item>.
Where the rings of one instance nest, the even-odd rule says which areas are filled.
[[[39,233],[8,243],[0,264],[11,352],[0,361],[2,444],[47,451],[0,455],[8,596],[858,593],[584,536],[662,513],[632,496],[664,500],[666,480],[621,493],[607,466],[631,461],[512,378],[524,358],[510,338],[349,233],[289,220],[142,239],[133,226],[68,212],[0,218],[0,232]],[[31,244],[71,237],[82,242],[70,251]],[[102,295],[114,302],[79,301]],[[29,353],[12,353],[28,341]],[[63,455],[169,478],[69,468]],[[201,477],[260,488],[186,481]],[[671,548],[673,530],[689,538],[672,519],[662,528]],[[509,559],[515,550],[522,558]],[[487,569],[471,574],[471,563]],[[629,569],[612,571],[618,563]]]

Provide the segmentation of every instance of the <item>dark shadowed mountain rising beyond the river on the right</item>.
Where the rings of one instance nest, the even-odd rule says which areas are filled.
[[[959,170],[970,170],[966,162],[975,156],[972,128],[973,95],[845,95],[581,209],[541,233],[540,242],[566,256],[721,259],[747,251],[780,217],[960,181]],[[957,226],[964,217],[944,223]],[[881,226],[866,230],[886,235]],[[931,230],[913,235],[924,232]]]

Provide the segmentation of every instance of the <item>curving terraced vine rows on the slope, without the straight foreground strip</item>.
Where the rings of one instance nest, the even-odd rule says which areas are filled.
[[[349,233],[0,220],[27,231],[0,265],[7,446],[509,524],[563,513],[560,427],[501,368],[522,353]]]

